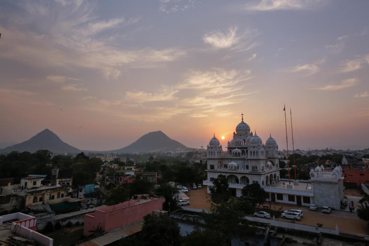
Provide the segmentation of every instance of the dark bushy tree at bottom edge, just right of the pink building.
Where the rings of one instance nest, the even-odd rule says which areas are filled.
[[[141,233],[144,245],[180,245],[182,240],[178,223],[166,215],[145,215]]]

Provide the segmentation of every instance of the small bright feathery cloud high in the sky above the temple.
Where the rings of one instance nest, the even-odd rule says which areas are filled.
[[[258,35],[256,29],[248,28],[243,32],[238,32],[238,27],[230,27],[226,31],[212,31],[203,37],[206,44],[210,44],[215,50],[230,48],[241,51],[248,50],[256,45],[252,43],[252,39]]]

